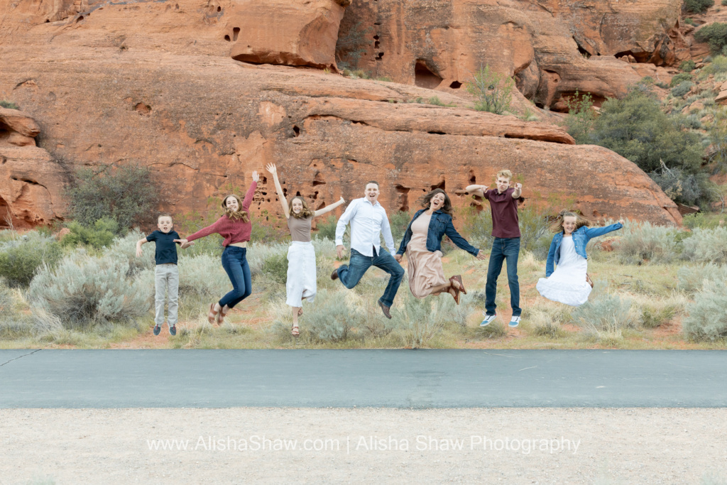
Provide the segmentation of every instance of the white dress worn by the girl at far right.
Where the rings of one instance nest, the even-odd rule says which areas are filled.
[[[588,262],[576,252],[572,237],[561,242],[561,259],[550,278],[540,278],[535,286],[543,297],[554,302],[580,306],[588,301],[590,284],[586,283]]]

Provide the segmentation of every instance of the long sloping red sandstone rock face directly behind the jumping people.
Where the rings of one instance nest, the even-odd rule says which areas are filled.
[[[64,169],[151,167],[159,209],[175,214],[217,210],[210,198],[244,191],[252,170],[263,175],[253,213],[277,214],[263,172],[273,161],[287,193],[316,208],[362,196],[371,178],[390,211],[416,207],[434,187],[474,204],[462,189],[491,183],[507,167],[529,204],[561,200],[592,217],[680,221],[675,204],[630,161],[572,145],[560,127],[467,109],[457,90],[237,62],[225,39],[226,16],[237,8],[107,3],[55,23],[11,14],[0,25],[0,57],[8,61],[0,99],[36,119],[43,146]],[[43,183],[52,201],[64,183],[60,174],[52,187]]]

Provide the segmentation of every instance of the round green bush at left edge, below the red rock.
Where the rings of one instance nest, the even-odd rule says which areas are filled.
[[[28,286],[42,265],[54,266],[60,260],[60,244],[55,238],[30,231],[0,242],[0,278],[10,286]]]

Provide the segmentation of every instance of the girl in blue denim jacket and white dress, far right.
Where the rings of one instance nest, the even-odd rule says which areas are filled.
[[[555,233],[545,263],[545,278],[536,288],[543,297],[566,305],[579,306],[588,300],[593,281],[588,277],[586,245],[591,239],[617,231],[624,221],[605,228],[589,228],[590,221],[575,212],[562,211],[550,226]],[[553,270],[553,265],[558,268]]]

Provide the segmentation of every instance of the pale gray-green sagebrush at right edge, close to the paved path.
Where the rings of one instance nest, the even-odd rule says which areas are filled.
[[[711,281],[694,295],[686,308],[682,332],[689,340],[717,340],[727,337],[727,281]]]

